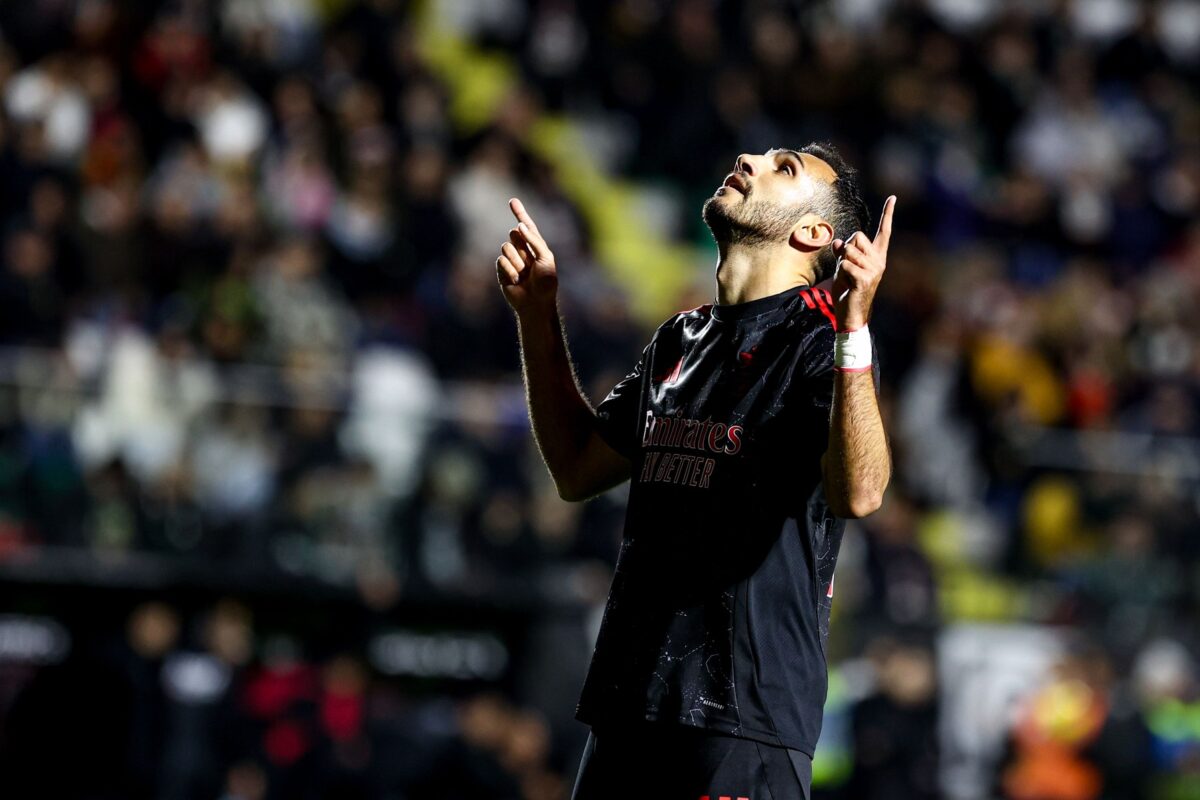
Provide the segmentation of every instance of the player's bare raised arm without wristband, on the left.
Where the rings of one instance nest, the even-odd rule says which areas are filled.
[[[496,276],[517,319],[521,373],[534,440],[558,495],[586,500],[630,476],[628,458],[596,433],[596,415],[580,390],[558,311],[554,254],[517,198],[517,227],[496,259]]]

